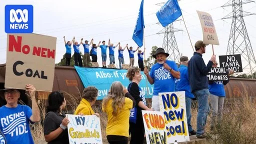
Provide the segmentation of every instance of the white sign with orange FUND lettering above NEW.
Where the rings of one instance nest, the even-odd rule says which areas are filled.
[[[142,110],[142,117],[145,128],[146,143],[166,144],[166,131],[164,116],[161,111]]]

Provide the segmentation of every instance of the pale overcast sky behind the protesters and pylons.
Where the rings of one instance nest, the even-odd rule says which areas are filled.
[[[156,45],[162,47],[164,34],[156,34],[162,27],[155,15],[160,6],[157,3],[167,0],[144,0],[144,46],[145,56],[148,57],[151,47]],[[59,62],[65,53],[63,36],[66,40],[75,40],[80,38],[90,40],[94,43],[105,40],[106,44],[110,38],[114,45],[120,42],[121,46],[126,45],[136,48],[136,43],[132,40],[132,33],[135,27],[140,0],[0,0],[0,63],[6,62],[6,33],[4,31],[4,6],[6,4],[32,4],[33,5],[33,33],[44,34],[57,37],[55,63]],[[193,55],[193,50],[189,42],[188,33],[192,45],[197,40],[202,40],[202,30],[196,10],[205,11],[211,14],[219,45],[213,45],[214,52],[218,60],[218,55],[225,55],[227,42],[232,19],[221,18],[231,12],[232,7],[220,7],[228,0],[180,0],[179,6],[182,9],[184,22],[178,20],[173,22],[174,28],[182,31],[175,32],[175,38],[180,54],[189,58]],[[256,13],[256,3],[251,2],[243,5],[243,11]],[[181,19],[179,17],[178,19]],[[256,54],[256,26],[254,26],[256,15],[244,17],[245,25],[249,35],[253,52]],[[83,46],[80,45],[80,51],[83,52]],[[142,46],[143,48],[143,46]],[[98,51],[98,63],[101,66],[101,51]],[[108,49],[107,49],[108,53]],[[73,49],[72,49],[73,54]],[[206,53],[203,54],[205,63],[212,55],[211,46],[206,47]],[[115,63],[118,64],[118,51],[115,49]],[[137,66],[137,54],[134,54]],[[244,61],[244,60],[243,60]],[[242,61],[242,62],[243,62]],[[109,63],[107,56],[106,63]],[[128,51],[124,51],[124,63],[129,63]]]

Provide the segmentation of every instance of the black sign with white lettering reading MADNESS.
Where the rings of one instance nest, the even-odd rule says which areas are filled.
[[[228,80],[228,69],[227,67],[211,67],[209,73],[207,74],[209,81],[216,80]]]

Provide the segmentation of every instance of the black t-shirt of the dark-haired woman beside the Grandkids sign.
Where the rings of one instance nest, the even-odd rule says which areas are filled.
[[[58,112],[49,111],[44,118],[43,122],[43,134],[47,135],[51,131],[57,129],[62,122],[62,119],[65,117],[65,114],[60,114]],[[69,143],[67,128],[62,131],[54,140],[48,142],[49,144],[60,144],[60,143]]]

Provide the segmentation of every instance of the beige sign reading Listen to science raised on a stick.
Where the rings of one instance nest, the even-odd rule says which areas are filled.
[[[201,22],[203,42],[205,44],[219,45],[218,36],[211,15],[207,12],[198,10],[196,10],[196,12]]]

